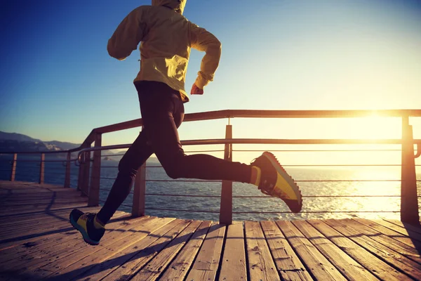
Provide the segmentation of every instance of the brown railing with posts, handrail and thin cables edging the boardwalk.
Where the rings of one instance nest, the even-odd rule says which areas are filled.
[[[378,150],[378,151],[401,151],[401,164],[339,164],[339,165],[283,165],[283,166],[401,166],[400,179],[380,179],[380,181],[397,181],[401,182],[401,221],[409,223],[419,223],[418,203],[417,203],[417,179],[415,174],[415,158],[421,154],[421,140],[413,139],[413,129],[409,124],[409,117],[421,117],[421,110],[222,110],[216,112],[200,112],[185,115],[185,122],[210,120],[210,119],[231,119],[231,118],[353,118],[353,117],[372,117],[373,113],[379,117],[399,117],[402,120],[402,137],[401,139],[261,139],[261,138],[232,138],[232,125],[228,124],[225,130],[225,138],[222,139],[205,139],[205,140],[190,140],[182,141],[182,145],[225,145],[224,159],[232,161],[232,154],[236,152],[258,151],[258,150],[233,150],[234,144],[281,144],[281,145],[335,145],[335,144],[383,144],[383,145],[401,145],[401,150]],[[67,151],[67,165],[70,161],[70,153],[79,151],[78,160],[79,176],[78,188],[83,194],[88,195],[88,205],[98,206],[100,203],[100,180],[101,178],[101,151],[111,149],[128,148],[130,145],[110,145],[102,146],[102,134],[114,131],[121,131],[125,129],[132,129],[142,126],[142,119],[135,119],[128,122],[104,126],[93,129],[80,148]],[[92,144],[94,146],[92,147]],[[417,146],[417,153],[415,153],[414,145]],[[194,152],[215,152],[216,150],[195,150]],[[301,151],[301,152],[317,152],[317,151],[372,151],[372,150],[274,150],[274,151]],[[62,152],[61,152],[62,153]],[[93,153],[93,157],[91,154]],[[114,155],[115,156],[115,155]],[[15,165],[16,155],[14,155],[13,163]],[[44,163],[41,156],[41,164]],[[159,166],[155,166],[159,167]],[[149,167],[151,168],[151,167]],[[12,175],[15,173],[15,166],[12,165]],[[40,172],[40,182],[41,182]],[[13,176],[14,178],[14,176]],[[67,183],[67,169],[66,169],[66,183]],[[107,178],[112,179],[112,178]],[[145,198],[146,196],[175,196],[175,197],[220,197],[220,210],[183,210],[183,209],[168,209],[169,211],[200,211],[220,214],[220,223],[231,223],[232,214],[280,214],[282,211],[274,212],[255,212],[255,211],[233,211],[233,198],[265,198],[267,196],[233,196],[232,182],[222,181],[222,191],[220,196],[215,195],[170,195],[159,193],[147,193],[146,183],[146,166],[145,164],[138,170],[135,178],[135,188],[133,190],[133,216],[143,216],[145,214]],[[163,180],[160,180],[163,181]],[[166,181],[166,180],[165,180]],[[180,180],[179,180],[180,181]],[[346,182],[355,180],[325,180],[324,182]],[[379,180],[366,180],[379,181]],[[192,181],[189,181],[192,182]],[[221,182],[221,181],[217,181]],[[298,182],[315,182],[311,180],[298,180]],[[66,185],[65,186],[68,186]],[[376,195],[367,197],[396,197],[398,195]],[[305,197],[329,197],[328,195],[305,195]],[[333,197],[333,195],[332,195]],[[338,196],[336,196],[338,197]],[[353,196],[343,196],[353,197]],[[149,208],[156,210],[164,210],[163,208]],[[307,213],[318,211],[305,211]],[[335,213],[337,211],[330,211]],[[342,211],[343,212],[343,211]],[[346,212],[346,211],[345,211]],[[349,211],[352,212],[352,211]],[[392,212],[392,211],[388,211]],[[394,212],[394,211],[393,211]]]

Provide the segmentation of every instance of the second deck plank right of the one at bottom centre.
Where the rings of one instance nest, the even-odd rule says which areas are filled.
[[[257,221],[246,221],[245,228],[250,280],[279,280],[260,224]]]

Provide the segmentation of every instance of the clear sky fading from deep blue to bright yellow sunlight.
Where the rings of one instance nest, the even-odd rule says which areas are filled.
[[[139,51],[107,41],[149,1],[6,1],[0,11],[0,131],[81,143],[94,128],[140,118]],[[189,0],[184,15],[215,34],[215,81],[186,113],[212,110],[421,109],[421,1]],[[203,53],[192,51],[186,89]],[[411,119],[421,138],[421,118]],[[234,138],[399,138],[399,119],[233,119]],[[181,139],[223,138],[227,120],[189,122]],[[131,143],[139,129],[103,136]]]

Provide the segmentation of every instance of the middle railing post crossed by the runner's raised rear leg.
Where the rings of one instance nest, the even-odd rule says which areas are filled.
[[[225,139],[232,138],[232,125],[225,129]],[[225,144],[224,159],[232,161],[232,143]],[[232,224],[232,181],[222,181],[220,223]]]

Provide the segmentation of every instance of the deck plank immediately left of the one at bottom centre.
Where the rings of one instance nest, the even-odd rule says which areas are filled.
[[[196,254],[199,252],[203,240],[210,228],[210,221],[203,221],[196,230],[192,238],[187,242],[184,248],[180,251],[175,260],[168,266],[168,269],[160,277],[160,280],[182,281],[189,271]]]

